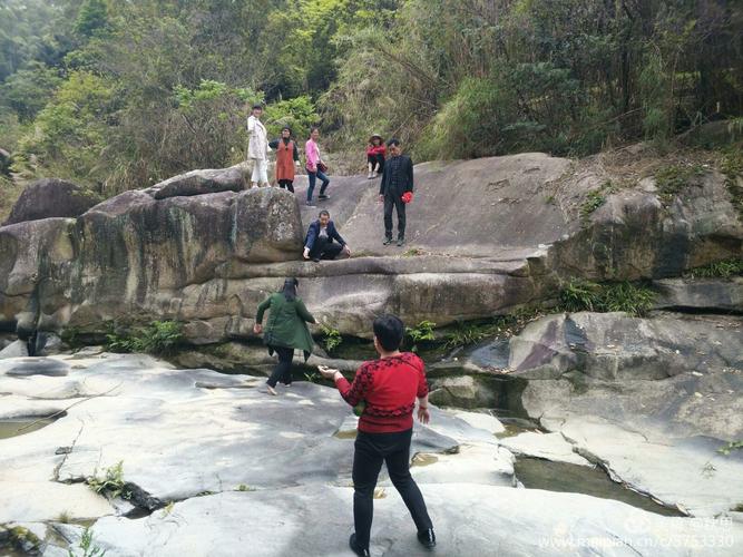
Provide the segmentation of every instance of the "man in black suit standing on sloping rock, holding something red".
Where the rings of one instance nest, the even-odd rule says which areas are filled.
[[[405,243],[405,204],[412,199],[413,163],[402,155],[399,139],[387,141],[390,158],[384,163],[379,201],[384,203],[384,245],[392,243],[392,209],[398,212],[398,246]]]

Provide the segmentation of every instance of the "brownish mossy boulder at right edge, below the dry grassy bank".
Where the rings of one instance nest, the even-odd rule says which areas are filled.
[[[560,203],[598,190],[610,176],[567,180]],[[652,180],[652,178],[651,178]],[[586,189],[587,188],[587,189]],[[576,215],[577,217],[578,215]],[[694,176],[669,202],[642,187],[607,194],[584,227],[555,243],[553,265],[594,280],[662,278],[743,254],[743,222],[714,169]]]

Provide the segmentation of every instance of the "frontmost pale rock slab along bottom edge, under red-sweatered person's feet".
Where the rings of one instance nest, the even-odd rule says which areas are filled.
[[[743,528],[669,518],[583,495],[471,483],[422,485],[436,555],[735,556]],[[113,557],[346,556],[350,488],[322,485],[193,498],[137,520],[108,517],[94,546]],[[67,531],[77,531],[67,529]],[[718,543],[717,546],[714,543]],[[374,500],[372,555],[431,555],[395,492]],[[49,548],[47,557],[66,555]]]

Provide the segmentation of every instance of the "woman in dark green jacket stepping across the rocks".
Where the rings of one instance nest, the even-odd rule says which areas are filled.
[[[315,323],[315,319],[304,306],[302,299],[296,296],[296,287],[300,282],[296,278],[286,278],[280,292],[271,294],[258,305],[255,315],[253,332],[263,332],[263,314],[270,311],[268,322],[263,335],[263,342],[268,346],[268,354],[278,354],[278,363],[273,370],[266,384],[271,394],[276,393],[276,383],[281,381],[286,387],[292,384],[292,359],[294,349],[304,352],[304,361],[312,352],[312,335],[307,323]]]

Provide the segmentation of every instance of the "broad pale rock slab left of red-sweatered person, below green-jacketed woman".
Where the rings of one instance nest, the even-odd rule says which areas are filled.
[[[8,373],[16,365],[43,362],[68,367],[69,374]],[[309,382],[280,387],[280,392],[267,394],[258,378],[178,370],[140,354],[7,360],[0,368],[0,417],[63,416],[0,441],[0,482],[32,482],[39,495],[45,485],[60,494],[89,492],[61,482],[100,477],[121,462],[135,502],[148,508],[239,486],[350,485],[355,436],[338,434],[349,429],[348,404],[334,389]],[[75,398],[65,398],[69,394]],[[38,400],[41,395],[46,400]],[[495,440],[433,412],[436,429],[414,428],[413,455],[454,451],[459,439]],[[65,510],[86,518],[113,512],[95,497],[105,507],[91,508],[70,496]],[[42,497],[23,499],[14,490],[0,490],[0,506],[8,519],[53,520],[60,512],[59,505],[47,508]]]

